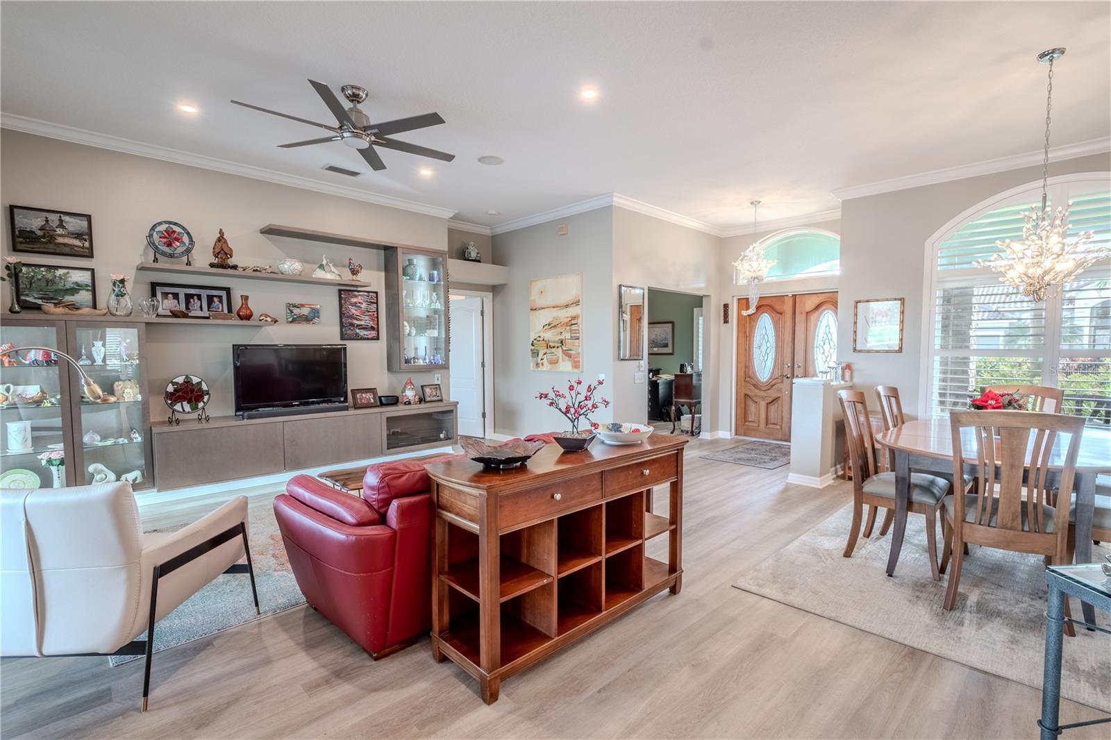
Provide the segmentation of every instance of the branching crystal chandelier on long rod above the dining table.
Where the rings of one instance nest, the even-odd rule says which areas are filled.
[[[1049,122],[1053,103],[1053,62],[1064,56],[1063,48],[1038,54],[1038,61],[1049,64],[1045,88],[1045,148],[1042,158],[1042,204],[1022,214],[1022,241],[997,241],[1002,252],[988,260],[977,260],[977,267],[991,268],[1001,282],[1022,291],[1034,301],[1043,301],[1060,291],[1063,283],[1092,263],[1111,254],[1107,247],[1090,247],[1093,232],[1084,231],[1069,240],[1069,204],[1051,212],[1049,200]]]

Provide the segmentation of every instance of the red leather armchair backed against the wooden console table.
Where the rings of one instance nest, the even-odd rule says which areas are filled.
[[[370,466],[362,498],[297,476],[274,499],[297,584],[376,660],[429,631],[431,488],[424,464]]]

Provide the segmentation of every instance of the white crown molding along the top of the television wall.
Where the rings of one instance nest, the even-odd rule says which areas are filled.
[[[193,154],[191,152],[170,149],[168,147],[160,147],[158,144],[149,144],[141,141],[109,136],[107,133],[87,131],[84,129],[62,126],[60,123],[51,123],[49,121],[40,121],[24,116],[0,112],[0,128],[11,129],[12,131],[22,131],[24,133],[33,133],[36,136],[47,137],[50,139],[71,141],[73,143],[97,147],[99,149],[111,149],[112,151],[119,151],[126,154],[138,154],[139,157],[160,159],[176,164],[199,167],[214,172],[224,172],[226,174],[238,174],[239,177],[250,178],[252,180],[262,180],[264,182],[289,186],[290,188],[312,190],[314,192],[322,192],[329,196],[339,196],[340,198],[350,198],[351,200],[360,200],[367,203],[374,203],[376,206],[386,206],[388,208],[411,211],[423,216],[434,216],[436,218],[450,219],[456,214],[456,211],[449,208],[429,206],[428,203],[420,203],[414,200],[406,200],[403,198],[382,196],[374,192],[368,192],[366,190],[359,190],[358,188],[333,184],[331,182],[322,182],[296,174],[287,174],[284,172],[276,172],[261,167],[240,164],[238,162],[230,162],[214,157]]]

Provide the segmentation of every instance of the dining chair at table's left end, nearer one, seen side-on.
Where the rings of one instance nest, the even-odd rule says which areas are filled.
[[[868,418],[868,402],[861,391],[838,391],[841,413],[844,417],[844,437],[852,460],[852,526],[844,557],[851,558],[860,534],[860,522],[864,507],[869,508],[865,537],[871,534],[879,509],[893,511],[895,508],[895,474],[891,471],[877,472],[875,440]],[[925,542],[930,552],[930,571],[933,580],[940,580],[938,563],[938,520],[942,500],[949,492],[949,481],[937,476],[911,473],[910,506],[908,511],[925,517]],[[944,529],[942,530],[944,534]]]

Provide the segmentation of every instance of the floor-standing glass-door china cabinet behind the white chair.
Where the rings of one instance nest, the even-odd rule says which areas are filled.
[[[47,352],[8,356],[0,368],[4,486],[51,486],[53,470],[39,456],[61,452],[59,482],[66,486],[129,480],[137,490],[151,487],[144,332],[141,321],[4,317],[0,344],[57,348],[104,392],[100,401],[84,398],[77,371]],[[30,422],[23,424],[30,428],[29,449],[17,422]]]

